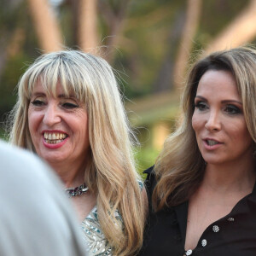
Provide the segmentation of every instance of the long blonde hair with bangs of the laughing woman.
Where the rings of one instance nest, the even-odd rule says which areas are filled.
[[[113,69],[101,57],[63,50],[41,55],[26,70],[18,84],[18,101],[9,116],[9,141],[33,152],[27,111],[38,80],[54,95],[60,82],[67,96],[74,95],[85,103],[91,150],[84,166],[84,181],[97,195],[98,219],[114,255],[135,254],[143,241],[145,209],[132,154],[135,137]],[[116,210],[123,224],[117,224]]]

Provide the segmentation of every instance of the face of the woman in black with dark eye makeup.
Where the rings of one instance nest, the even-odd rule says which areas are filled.
[[[253,157],[236,80],[227,71],[209,70],[201,77],[192,117],[198,147],[207,163]]]

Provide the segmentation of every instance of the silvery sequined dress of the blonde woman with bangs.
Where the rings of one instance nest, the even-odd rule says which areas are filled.
[[[138,182],[141,190],[143,183]],[[122,217],[118,211],[115,212],[115,218],[122,221]],[[97,207],[93,207],[88,216],[81,223],[83,230],[83,238],[88,248],[89,256],[105,256],[113,255],[112,248],[104,236],[98,220]]]

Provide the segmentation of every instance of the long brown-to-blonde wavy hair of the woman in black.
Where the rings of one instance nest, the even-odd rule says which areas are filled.
[[[248,47],[214,52],[190,68],[182,99],[182,121],[166,138],[154,167],[157,185],[153,192],[156,211],[189,200],[204,175],[205,161],[192,128],[195,95],[199,80],[208,70],[224,70],[236,79],[247,129],[256,142],[256,50]]]

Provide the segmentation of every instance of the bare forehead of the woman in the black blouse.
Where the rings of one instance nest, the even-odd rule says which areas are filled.
[[[222,100],[241,100],[232,73],[223,70],[209,70],[201,77],[196,95],[219,97]]]

